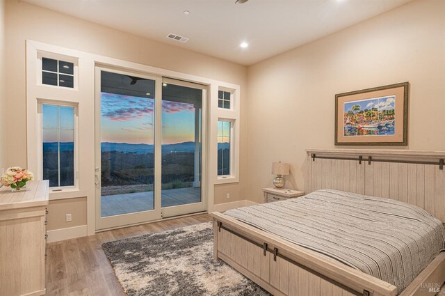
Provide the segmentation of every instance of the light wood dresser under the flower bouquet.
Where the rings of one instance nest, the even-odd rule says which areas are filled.
[[[0,295],[44,295],[48,181],[0,188]]]

